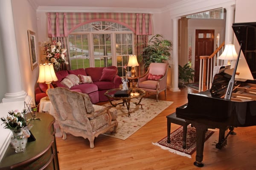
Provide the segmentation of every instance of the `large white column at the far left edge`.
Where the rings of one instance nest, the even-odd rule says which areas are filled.
[[[22,101],[27,93],[23,91],[20,66],[12,14],[12,0],[0,0],[0,37],[6,71],[7,92],[4,102]]]

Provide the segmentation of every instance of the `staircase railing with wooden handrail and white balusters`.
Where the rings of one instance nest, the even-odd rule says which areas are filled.
[[[223,42],[215,51],[209,56],[200,56],[200,70],[199,70],[199,89],[198,92],[210,89],[212,86],[212,75],[215,66],[223,65],[223,60],[218,60],[219,52],[223,52],[225,42]]]

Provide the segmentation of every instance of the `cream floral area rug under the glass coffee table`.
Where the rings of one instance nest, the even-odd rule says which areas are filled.
[[[173,102],[172,101],[156,101],[155,99],[143,98],[140,105],[133,104],[132,102],[138,102],[137,98],[131,100],[130,103],[130,114],[131,117],[128,117],[128,110],[122,104],[116,106],[117,109],[117,121],[118,126],[116,128],[116,133],[104,133],[104,135],[111,136],[114,138],[119,138],[122,140],[127,139],[129,136],[134,134],[137,130],[143,127],[146,123],[151,121],[156,117],[160,112],[169,107]],[[113,104],[120,103],[121,100],[112,101]],[[103,106],[110,106],[111,104],[104,104]]]

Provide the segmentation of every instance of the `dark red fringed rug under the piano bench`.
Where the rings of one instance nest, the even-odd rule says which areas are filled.
[[[206,141],[214,131],[207,130],[205,134]],[[153,143],[161,147],[164,150],[169,150],[169,152],[176,153],[180,156],[187,156],[191,158],[192,153],[196,150],[196,129],[195,127],[191,127],[190,125],[187,127],[187,135],[186,135],[186,149],[183,149],[183,127],[179,127],[177,130],[171,133],[170,135],[170,143],[167,143],[167,136],[157,143]]]

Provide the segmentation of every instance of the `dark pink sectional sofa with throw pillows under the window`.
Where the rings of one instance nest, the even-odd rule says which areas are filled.
[[[75,70],[62,70],[56,72],[58,81],[52,83],[54,87],[66,87],[70,90],[87,93],[93,104],[108,101],[108,98],[104,93],[109,89],[119,88],[122,84],[122,78],[117,75],[116,66],[109,67],[90,67],[86,69]],[[68,79],[68,80],[67,80]],[[40,99],[44,94],[43,89],[39,85],[39,89],[36,89],[36,103],[40,102]]]

